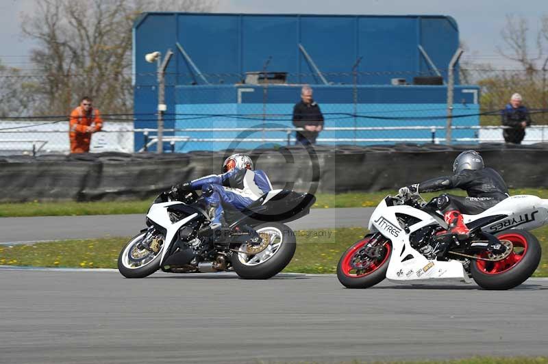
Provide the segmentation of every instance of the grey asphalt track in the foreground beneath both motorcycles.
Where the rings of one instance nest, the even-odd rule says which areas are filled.
[[[259,363],[548,354],[548,281],[345,289],[334,276],[0,270],[2,363]]]

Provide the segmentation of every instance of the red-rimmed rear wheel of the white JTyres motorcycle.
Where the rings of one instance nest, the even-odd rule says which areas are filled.
[[[512,289],[525,282],[540,263],[542,250],[538,239],[528,231],[507,230],[495,235],[499,240],[510,240],[513,250],[501,261],[473,261],[472,278],[483,289]]]

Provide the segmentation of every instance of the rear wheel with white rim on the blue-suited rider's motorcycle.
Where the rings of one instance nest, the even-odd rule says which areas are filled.
[[[243,279],[268,279],[282,272],[289,264],[297,248],[295,233],[279,222],[267,222],[254,227],[262,237],[268,239],[266,248],[260,247],[257,254],[249,254],[253,246],[240,245],[240,252],[232,254],[234,272]],[[248,250],[251,249],[251,250]]]

